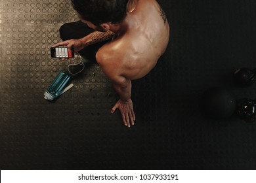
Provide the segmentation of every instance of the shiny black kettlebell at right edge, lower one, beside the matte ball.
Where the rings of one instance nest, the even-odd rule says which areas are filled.
[[[240,99],[237,102],[236,114],[245,122],[256,122],[256,102],[251,99]]]

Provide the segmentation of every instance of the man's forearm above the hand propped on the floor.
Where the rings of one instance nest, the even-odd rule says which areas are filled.
[[[125,86],[120,86],[118,84],[113,84],[113,86],[122,101],[131,99],[131,80],[127,80]]]

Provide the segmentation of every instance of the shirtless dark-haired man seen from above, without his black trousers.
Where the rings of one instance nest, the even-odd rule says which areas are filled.
[[[169,24],[156,0],[72,0],[78,17],[95,29],[80,39],[53,46],[79,52],[86,46],[112,37],[96,52],[96,61],[120,99],[112,108],[121,112],[127,127],[134,125],[131,80],[142,78],[156,65],[169,42]]]

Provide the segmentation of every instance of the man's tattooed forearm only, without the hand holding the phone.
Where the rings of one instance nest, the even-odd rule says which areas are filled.
[[[102,42],[102,41],[111,39],[113,36],[114,36],[114,33],[112,31],[106,31],[106,32],[94,31],[93,33],[81,38],[80,41],[83,42],[84,46],[89,46],[97,42]]]

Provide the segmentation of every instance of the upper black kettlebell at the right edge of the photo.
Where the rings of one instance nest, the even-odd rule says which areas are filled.
[[[256,69],[241,68],[234,72],[234,82],[237,86],[248,87],[256,80]]]

